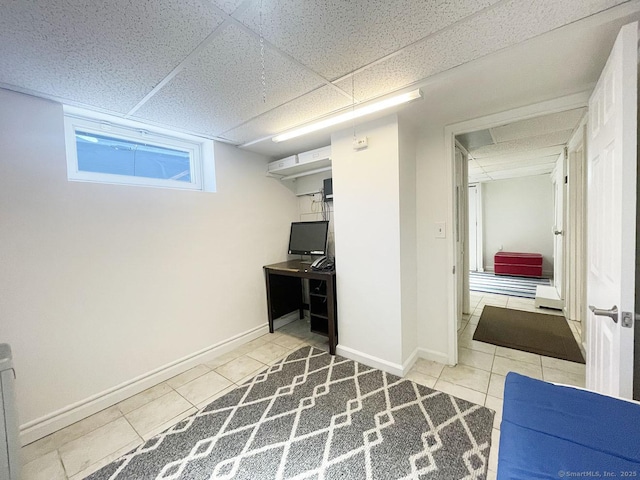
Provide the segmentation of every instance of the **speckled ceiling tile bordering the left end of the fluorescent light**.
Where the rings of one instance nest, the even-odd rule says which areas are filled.
[[[294,128],[301,123],[313,121],[349,104],[348,98],[332,87],[325,86],[275,108],[238,128],[223,132],[221,136],[236,143],[247,143]]]

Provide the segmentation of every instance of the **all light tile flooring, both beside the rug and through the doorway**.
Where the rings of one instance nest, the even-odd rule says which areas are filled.
[[[497,470],[506,373],[512,370],[584,386],[585,371],[584,365],[473,340],[485,305],[536,309],[533,300],[527,299],[499,295],[472,295],[471,299],[472,314],[464,317],[458,329],[459,364],[449,367],[419,359],[406,378],[496,411],[489,459],[491,479]],[[579,325],[571,325],[571,329],[579,335]],[[305,344],[328,350],[326,338],[309,332],[305,321],[291,323],[33,442],[22,448],[23,480],[84,478]]]

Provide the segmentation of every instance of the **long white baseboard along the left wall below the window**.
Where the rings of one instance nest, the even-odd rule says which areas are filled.
[[[147,388],[151,388],[158,383],[162,383],[171,377],[179,375],[200,363],[211,361],[268,332],[268,325],[252,328],[251,330],[247,330],[244,333],[240,333],[227,340],[163,365],[120,385],[27,422],[20,426],[20,441],[22,445],[34,442],[39,438],[45,437],[61,428],[93,415],[100,410],[115,405]]]

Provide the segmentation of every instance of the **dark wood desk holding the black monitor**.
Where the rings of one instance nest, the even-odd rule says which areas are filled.
[[[298,309],[304,316],[302,282],[309,280],[309,317],[311,331],[329,337],[329,353],[336,354],[338,344],[338,309],[336,303],[336,272],[311,270],[300,260],[265,265],[269,332],[273,320]]]

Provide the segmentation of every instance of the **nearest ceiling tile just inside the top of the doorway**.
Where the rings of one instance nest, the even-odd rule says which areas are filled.
[[[551,113],[492,128],[491,132],[493,138],[499,143],[561,130],[573,130],[586,111],[586,108],[576,108],[565,112]]]

